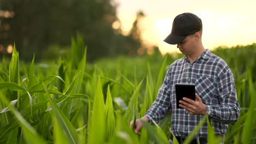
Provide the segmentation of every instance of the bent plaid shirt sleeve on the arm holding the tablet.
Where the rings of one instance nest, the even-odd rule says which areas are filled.
[[[218,80],[219,105],[206,105],[206,113],[210,118],[217,119],[226,124],[235,123],[240,116],[240,105],[236,96],[234,76],[231,70]]]

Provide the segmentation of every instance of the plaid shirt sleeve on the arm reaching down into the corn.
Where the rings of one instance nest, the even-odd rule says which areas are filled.
[[[171,109],[171,100],[170,100],[170,84],[169,81],[171,79],[171,67],[167,70],[167,73],[165,75],[164,82],[162,83],[162,86],[158,92],[158,97],[154,101],[153,105],[150,106],[148,111],[146,112],[146,117],[149,119],[149,123],[152,123],[152,119],[158,123],[160,122],[165,115],[170,111]]]

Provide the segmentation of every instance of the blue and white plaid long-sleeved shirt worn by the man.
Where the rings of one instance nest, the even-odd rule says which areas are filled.
[[[228,124],[236,122],[240,116],[231,70],[223,59],[206,50],[193,63],[185,56],[170,65],[158,98],[145,115],[149,118],[149,123],[152,123],[151,118],[157,123],[160,122],[171,111],[173,134],[188,136],[200,122],[202,115],[190,115],[187,110],[176,108],[176,83],[195,85],[196,93],[206,105],[206,113],[215,134],[225,134]],[[207,135],[207,122],[197,135]]]

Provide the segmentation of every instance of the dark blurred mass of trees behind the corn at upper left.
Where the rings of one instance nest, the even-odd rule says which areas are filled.
[[[111,0],[0,0],[0,53],[15,41],[22,59],[31,61],[35,52],[38,60],[51,51],[50,45],[70,46],[72,35],[79,32],[88,45],[89,61],[135,54],[141,44],[139,17],[126,37],[112,27],[114,22],[120,25],[116,8]]]

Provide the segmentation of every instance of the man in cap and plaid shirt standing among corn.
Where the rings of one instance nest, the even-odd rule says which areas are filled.
[[[202,45],[202,21],[191,13],[179,14],[172,23],[171,34],[164,40],[177,44],[185,55],[173,62],[168,69],[158,98],[141,119],[158,123],[172,112],[171,130],[179,143],[193,131],[207,113],[216,135],[223,136],[228,124],[235,123],[240,116],[234,76],[225,61],[206,50]],[[195,85],[196,100],[183,98],[177,109],[175,84]],[[131,121],[130,125],[133,124]],[[143,127],[136,120],[135,132]],[[197,133],[192,143],[207,143],[207,123]]]

